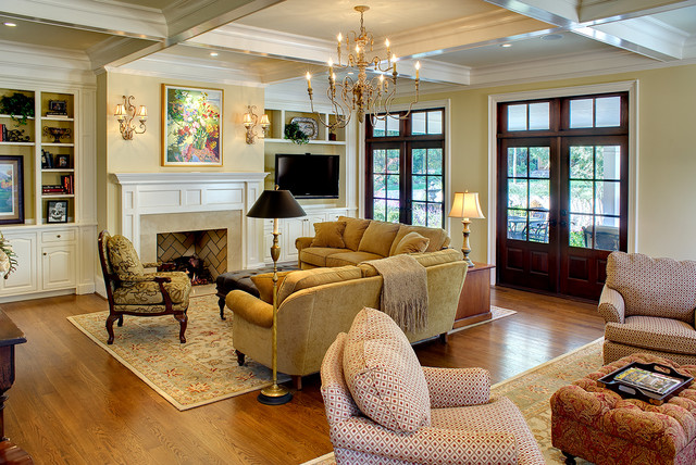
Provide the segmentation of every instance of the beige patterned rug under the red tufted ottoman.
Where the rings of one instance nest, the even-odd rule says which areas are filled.
[[[570,385],[602,365],[599,338],[572,352],[527,369],[520,375],[506,379],[490,389],[492,395],[505,395],[520,407],[524,419],[534,433],[534,438],[544,453],[547,464],[563,464],[563,454],[551,447],[551,394],[561,386]],[[334,465],[333,452],[306,462],[303,465]],[[577,458],[579,465],[588,462]]]

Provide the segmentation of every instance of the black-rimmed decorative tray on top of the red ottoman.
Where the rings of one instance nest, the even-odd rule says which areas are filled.
[[[597,382],[623,398],[660,405],[687,388],[693,380],[693,377],[682,375],[669,366],[633,362],[602,376]]]

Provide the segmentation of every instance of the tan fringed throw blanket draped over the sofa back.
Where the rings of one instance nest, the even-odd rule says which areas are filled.
[[[403,331],[427,327],[427,272],[409,255],[371,260],[370,265],[382,275],[382,311]]]

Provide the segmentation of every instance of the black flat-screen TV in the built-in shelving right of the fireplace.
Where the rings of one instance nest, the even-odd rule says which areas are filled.
[[[300,199],[338,198],[338,155],[275,155],[275,184]]]

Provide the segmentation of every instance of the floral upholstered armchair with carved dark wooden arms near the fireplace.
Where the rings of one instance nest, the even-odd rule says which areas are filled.
[[[186,342],[188,296],[191,282],[186,273],[145,273],[157,263],[141,263],[130,241],[123,236],[99,234],[99,260],[109,298],[107,331],[113,343],[113,322],[123,326],[123,315],[174,315],[179,323],[178,338]]]

